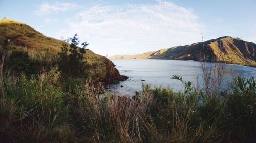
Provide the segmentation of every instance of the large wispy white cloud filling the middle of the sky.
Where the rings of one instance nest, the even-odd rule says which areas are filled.
[[[69,30],[56,37],[77,33],[102,55],[134,54],[200,41],[202,25],[191,10],[157,1],[147,5],[96,5],[67,19]]]

